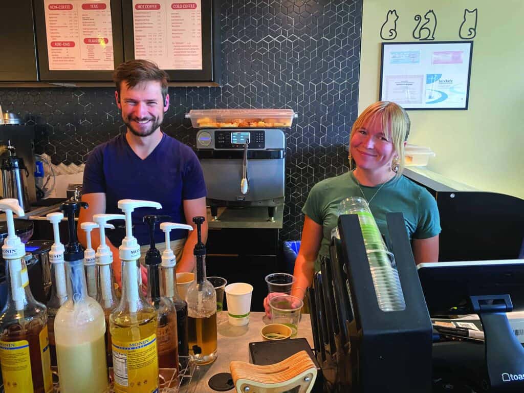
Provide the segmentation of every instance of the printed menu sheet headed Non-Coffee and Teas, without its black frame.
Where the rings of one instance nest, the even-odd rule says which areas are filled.
[[[113,70],[111,0],[44,0],[49,70]]]

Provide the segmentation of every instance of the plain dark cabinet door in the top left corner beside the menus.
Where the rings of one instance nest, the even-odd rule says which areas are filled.
[[[38,81],[31,0],[8,1],[2,7],[0,81]]]

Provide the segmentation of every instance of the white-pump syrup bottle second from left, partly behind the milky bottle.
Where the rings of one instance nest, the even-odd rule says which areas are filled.
[[[51,355],[51,365],[57,365],[57,350],[54,342],[54,318],[60,306],[67,301],[67,281],[65,280],[65,261],[64,245],[60,243],[59,224],[62,221],[63,213],[49,213],[46,219],[53,225],[54,243],[49,252],[49,262],[51,263],[51,297],[47,302],[49,329],[49,351]]]

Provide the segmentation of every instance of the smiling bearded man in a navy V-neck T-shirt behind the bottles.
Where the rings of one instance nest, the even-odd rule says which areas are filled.
[[[133,60],[118,65],[113,73],[116,83],[115,99],[127,126],[124,135],[97,146],[90,154],[84,169],[82,201],[89,209],[79,216],[78,236],[85,245],[85,233],[80,224],[93,221],[97,213],[122,213],[118,200],[139,199],[156,201],[162,210],[140,208],[133,212],[133,234],[142,246],[142,258],[149,248],[148,227],[143,223],[146,214],[166,214],[172,222],[195,227],[192,217],[205,216],[206,189],[200,162],[190,147],[160,130],[163,115],[169,107],[168,75],[147,60]],[[113,224],[119,224],[117,221]],[[116,231],[115,231],[116,232]],[[195,231],[171,231],[171,248],[177,255],[177,271],[193,271]],[[208,227],[202,226],[203,241]],[[125,234],[108,234],[107,244],[113,252],[113,269],[121,282],[121,261],[117,246]],[[186,240],[187,237],[187,240]],[[155,241],[164,242],[156,228]],[[92,233],[93,248],[100,244],[98,231]],[[159,246],[162,250],[163,244]],[[145,268],[142,280],[147,282]]]

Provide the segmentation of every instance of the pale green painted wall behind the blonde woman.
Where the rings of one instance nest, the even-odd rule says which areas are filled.
[[[467,111],[409,111],[410,143],[436,153],[428,169],[479,190],[524,198],[524,1],[364,0],[358,112],[379,98],[380,27],[396,9],[397,37],[433,9],[435,41],[458,41],[464,8],[478,8]]]

